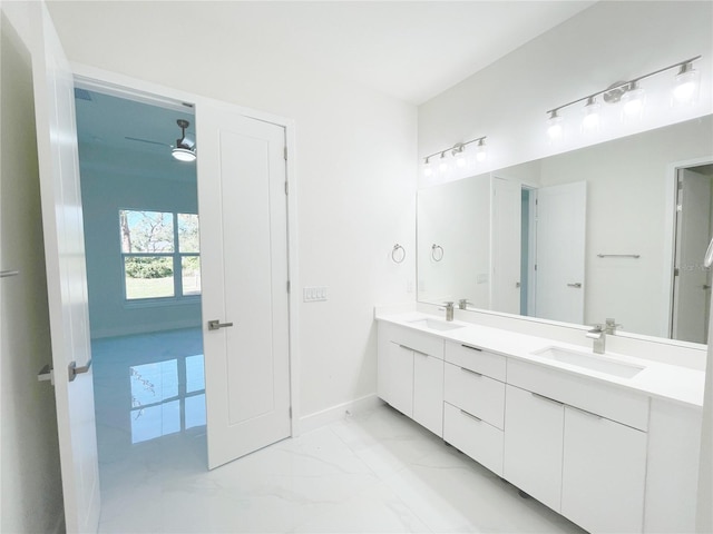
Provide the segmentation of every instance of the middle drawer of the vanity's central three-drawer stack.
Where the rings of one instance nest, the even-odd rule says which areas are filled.
[[[446,363],[446,402],[504,428],[505,384],[485,375]]]

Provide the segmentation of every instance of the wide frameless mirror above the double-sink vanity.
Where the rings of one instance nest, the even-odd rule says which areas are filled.
[[[419,300],[468,298],[473,308],[575,324],[615,317],[626,332],[671,337],[675,166],[712,157],[709,116],[422,189]],[[569,211],[563,219],[567,222],[550,225],[555,243],[541,235],[538,241],[545,226],[540,197],[572,184],[582,184],[584,207],[576,207],[574,200],[561,202],[557,209]],[[577,245],[557,234],[563,227],[576,228],[577,215],[584,227],[584,273],[567,271],[563,280],[551,283],[565,284],[559,288],[565,293],[556,296],[551,284],[543,286],[550,276],[543,269],[549,270],[547,263],[560,269],[577,263]],[[705,228],[707,239],[710,218]],[[438,265],[429,261],[432,243],[452,244],[443,246],[446,254]],[[543,256],[547,250],[554,255],[548,261]],[[693,254],[702,261],[704,251],[705,247]],[[701,291],[710,285],[710,280],[700,284]],[[561,295],[567,290],[582,295],[580,316],[573,315],[572,305],[565,309],[567,298]],[[688,314],[704,322],[702,313]]]

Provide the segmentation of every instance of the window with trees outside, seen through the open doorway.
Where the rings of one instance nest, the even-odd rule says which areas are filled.
[[[127,300],[201,295],[198,216],[119,210]]]

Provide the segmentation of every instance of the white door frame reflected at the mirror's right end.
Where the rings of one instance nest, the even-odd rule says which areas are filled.
[[[664,254],[662,266],[665,274],[664,283],[662,284],[662,301],[666,305],[664,306],[665,309],[663,309],[663,315],[660,320],[662,322],[662,325],[665,326],[666,335],[672,342],[676,342],[676,339],[672,338],[672,319],[674,310],[673,289],[675,284],[673,269],[676,264],[676,201],[678,191],[678,170],[711,164],[713,164],[713,155],[704,156],[702,158],[673,161],[666,166],[666,175],[664,177],[664,201],[666,204],[664,206]]]

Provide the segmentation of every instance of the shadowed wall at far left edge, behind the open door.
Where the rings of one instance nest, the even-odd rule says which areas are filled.
[[[0,12],[0,269],[20,271],[0,279],[0,531],[59,532],[55,392],[37,380],[51,350],[32,77],[14,8]]]

